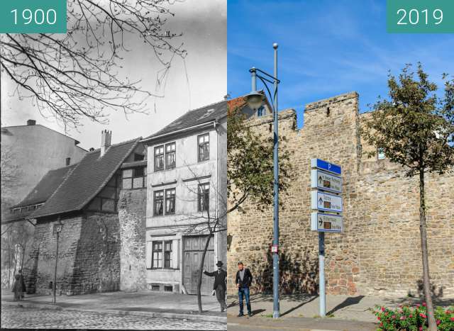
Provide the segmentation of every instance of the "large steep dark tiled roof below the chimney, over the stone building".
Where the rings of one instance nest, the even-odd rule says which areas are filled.
[[[87,153],[70,176],[31,217],[39,218],[84,208],[104,188],[126,157],[133,152],[139,140],[140,138],[111,145],[102,157],[99,157],[99,149]]]

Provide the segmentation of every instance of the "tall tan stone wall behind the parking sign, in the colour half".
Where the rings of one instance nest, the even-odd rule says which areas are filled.
[[[310,230],[310,159],[343,169],[344,232],[326,235],[328,293],[404,296],[419,292],[419,191],[416,179],[386,159],[362,156],[358,94],[310,103],[304,127],[296,130],[293,110],[279,113],[279,135],[292,152],[292,185],[281,194],[279,252],[281,291],[318,291],[318,236]],[[272,117],[251,120],[263,134],[272,133]],[[428,176],[428,235],[431,280],[436,293],[454,296],[454,175]],[[246,201],[245,214],[228,215],[233,235],[228,252],[228,291],[234,293],[239,260],[250,267],[254,292],[272,289],[272,208],[260,213]]]

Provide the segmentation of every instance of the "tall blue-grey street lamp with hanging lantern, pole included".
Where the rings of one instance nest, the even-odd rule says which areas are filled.
[[[272,241],[272,293],[273,293],[273,311],[272,317],[279,318],[279,159],[278,159],[278,114],[277,114],[277,43],[272,44],[275,49],[275,72],[274,75],[267,74],[255,67],[249,70],[252,79],[252,91],[245,96],[248,106],[253,109],[259,108],[265,100],[265,95],[257,91],[257,77],[262,81],[267,89],[272,101],[272,114],[274,120],[274,145],[273,145],[273,167],[274,167],[274,216],[273,216],[273,241]],[[273,84],[274,93],[271,94],[267,82]]]

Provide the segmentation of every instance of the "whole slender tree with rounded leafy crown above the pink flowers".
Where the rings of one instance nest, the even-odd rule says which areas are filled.
[[[431,331],[437,327],[429,279],[424,176],[452,171],[454,165],[454,80],[443,74],[443,81],[444,93],[437,94],[438,86],[428,80],[421,64],[416,72],[407,64],[398,78],[389,74],[389,100],[375,103],[362,130],[370,145],[404,167],[406,176],[419,176],[423,288]]]

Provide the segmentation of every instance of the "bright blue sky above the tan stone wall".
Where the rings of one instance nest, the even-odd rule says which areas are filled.
[[[384,0],[228,0],[228,93],[250,91],[250,67],[272,73],[272,43],[279,43],[279,109],[348,91],[360,111],[387,96],[387,74],[422,62],[441,85],[454,75],[454,34],[389,34]],[[251,14],[253,13],[253,14]],[[260,86],[258,86],[260,88]]]

